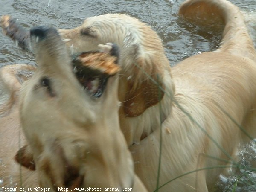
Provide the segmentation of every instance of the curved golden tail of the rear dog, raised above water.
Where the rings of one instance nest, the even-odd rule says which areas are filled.
[[[186,20],[204,25],[224,23],[221,46],[216,52],[228,52],[256,61],[256,51],[239,8],[227,0],[186,0],[179,10]]]

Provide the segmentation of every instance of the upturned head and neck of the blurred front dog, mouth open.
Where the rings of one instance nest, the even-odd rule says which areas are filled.
[[[103,52],[77,55],[72,67],[56,29],[30,33],[38,68],[21,88],[20,119],[40,186],[146,192],[119,128],[118,48],[101,45]]]

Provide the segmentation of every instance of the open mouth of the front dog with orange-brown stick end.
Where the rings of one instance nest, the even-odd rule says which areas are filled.
[[[108,77],[119,70],[117,57],[104,52],[84,52],[73,56],[72,64],[76,78],[93,97],[102,96]]]

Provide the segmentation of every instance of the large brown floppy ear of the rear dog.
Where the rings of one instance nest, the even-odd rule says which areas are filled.
[[[156,105],[163,98],[163,81],[157,69],[157,61],[138,58],[128,78],[128,90],[123,102],[125,115],[135,117],[147,108]]]

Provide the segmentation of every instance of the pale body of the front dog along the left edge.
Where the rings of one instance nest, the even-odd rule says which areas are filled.
[[[35,67],[26,64],[6,65],[0,69],[1,189],[39,186],[35,172],[21,167],[14,158],[19,148],[26,145],[25,136],[20,128],[18,92],[22,82],[29,79],[34,70]]]

